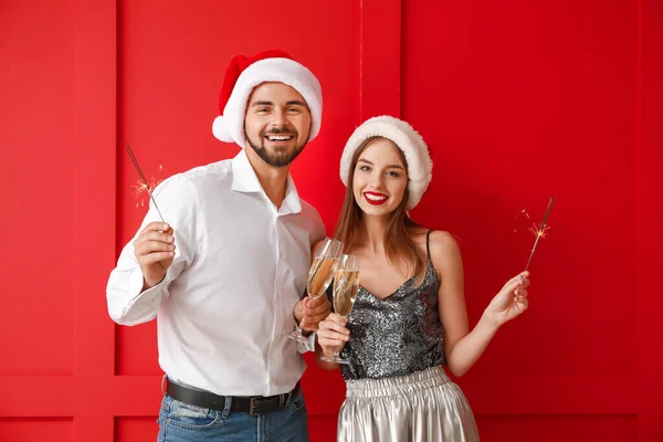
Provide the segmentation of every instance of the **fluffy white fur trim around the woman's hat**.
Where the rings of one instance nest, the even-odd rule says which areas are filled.
[[[357,148],[371,137],[387,138],[403,151],[408,162],[408,190],[410,192],[406,209],[413,209],[431,182],[433,161],[421,135],[402,119],[383,115],[369,118],[357,127],[346,143],[340,157],[340,180],[346,187],[348,186],[352,156]]]

